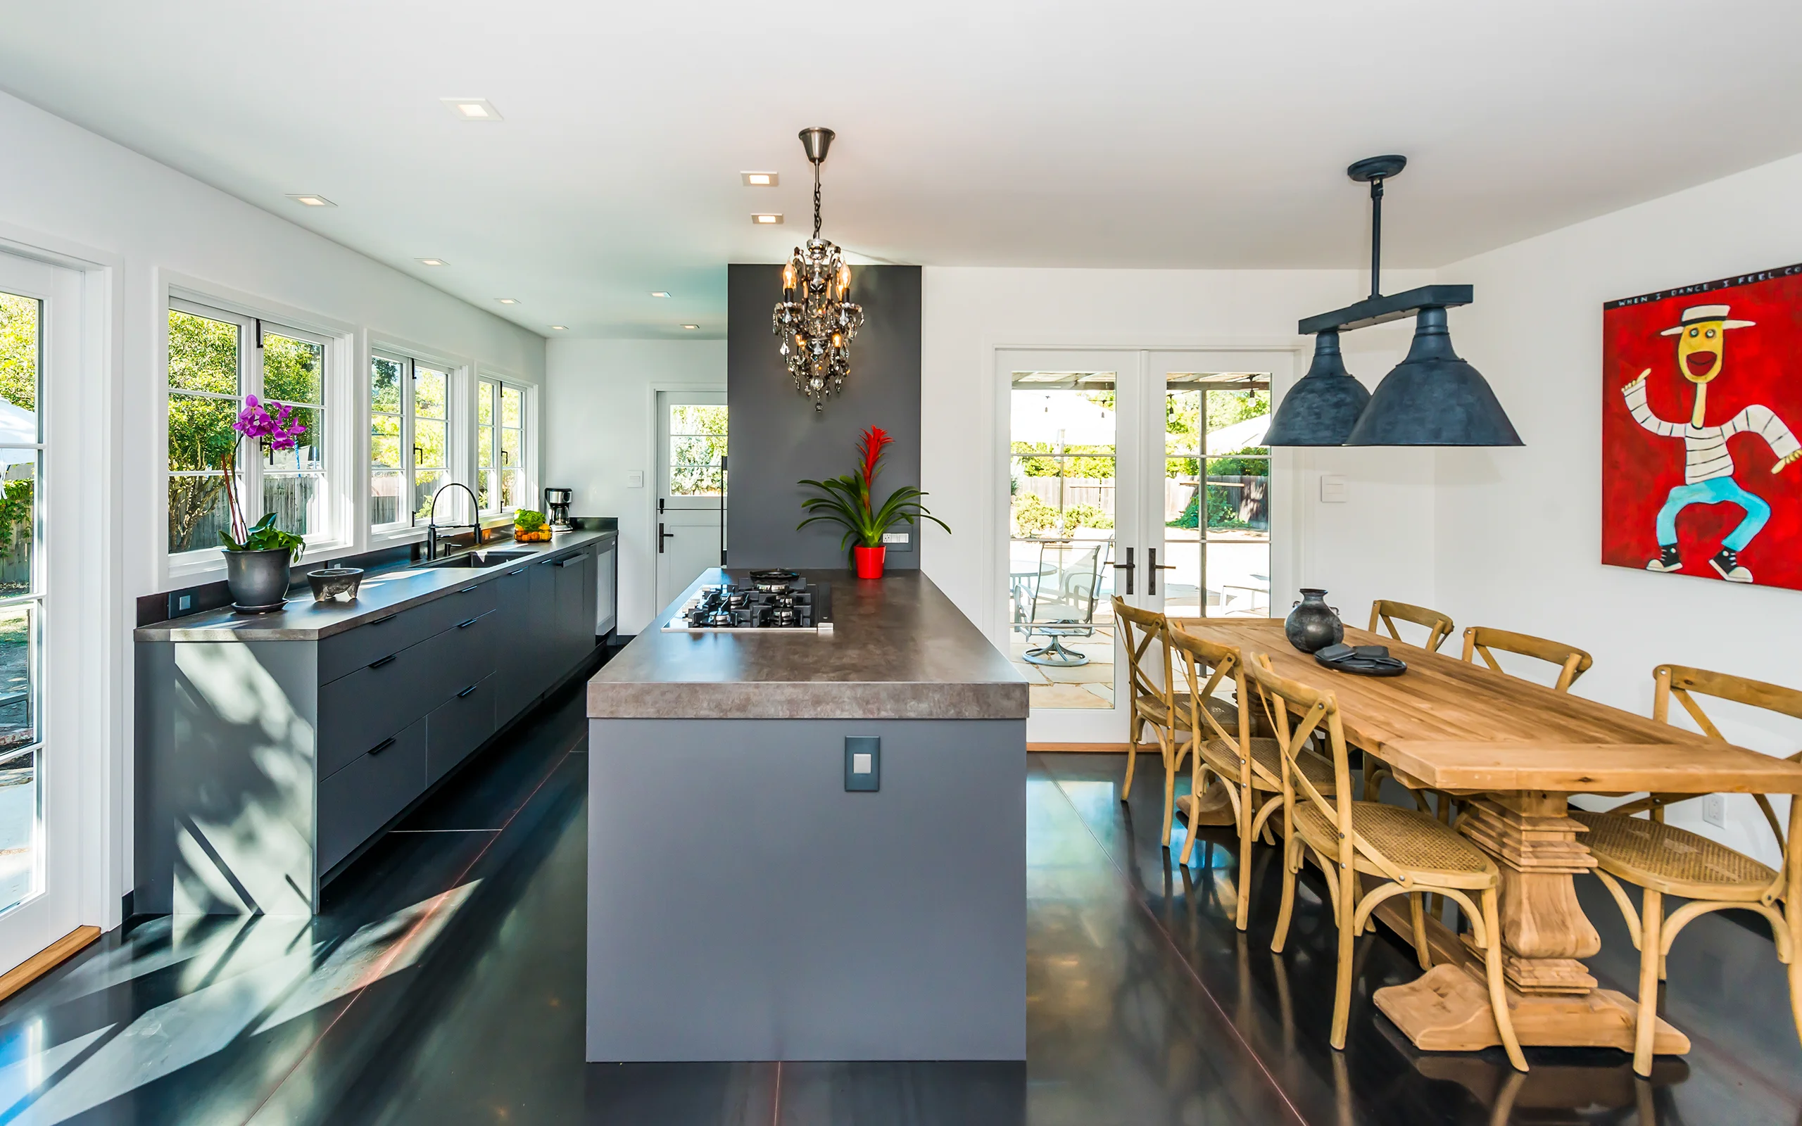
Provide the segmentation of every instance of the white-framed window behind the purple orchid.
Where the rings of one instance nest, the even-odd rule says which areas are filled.
[[[328,364],[333,339],[305,328],[169,299],[168,467],[171,562],[214,562],[229,531],[222,458],[236,456],[245,522],[267,513],[312,542],[333,539],[328,479]],[[249,396],[292,409],[305,429],[290,450],[241,443],[232,420]]]

